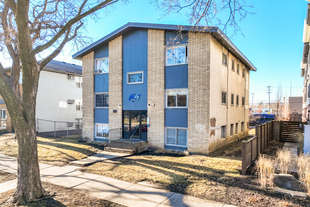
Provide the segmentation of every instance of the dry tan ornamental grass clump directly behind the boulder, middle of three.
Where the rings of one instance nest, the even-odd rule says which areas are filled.
[[[289,150],[277,151],[276,166],[280,173],[287,174],[293,169],[294,156]]]

